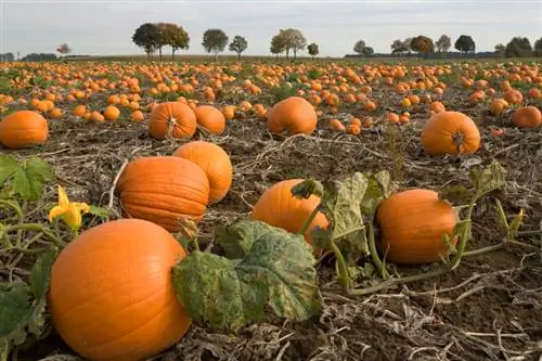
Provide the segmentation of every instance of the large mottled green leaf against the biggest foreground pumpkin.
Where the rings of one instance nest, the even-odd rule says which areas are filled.
[[[236,330],[264,317],[306,320],[321,309],[315,259],[302,235],[253,220],[217,232],[230,258],[195,250],[173,268],[178,298],[194,319]]]

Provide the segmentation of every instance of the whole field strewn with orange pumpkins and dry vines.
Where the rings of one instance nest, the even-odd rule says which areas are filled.
[[[542,360],[541,68],[0,64],[0,361]]]

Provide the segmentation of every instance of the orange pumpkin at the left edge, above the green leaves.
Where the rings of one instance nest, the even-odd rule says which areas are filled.
[[[0,121],[0,143],[13,150],[43,144],[49,126],[43,116],[33,111],[17,111]]]

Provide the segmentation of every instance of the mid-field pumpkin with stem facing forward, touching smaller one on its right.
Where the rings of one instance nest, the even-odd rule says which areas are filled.
[[[156,105],[149,118],[149,132],[157,140],[166,137],[190,139],[197,128],[194,111],[181,102],[164,102]]]

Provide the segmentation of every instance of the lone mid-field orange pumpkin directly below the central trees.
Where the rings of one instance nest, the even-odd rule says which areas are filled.
[[[271,132],[310,134],[317,128],[318,116],[311,103],[300,96],[289,96],[274,104],[268,112],[267,125]]]

